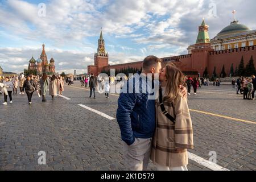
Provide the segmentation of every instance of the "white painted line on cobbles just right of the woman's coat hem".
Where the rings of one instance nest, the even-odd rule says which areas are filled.
[[[200,156],[192,154],[191,152],[188,152],[188,158],[195,161],[196,163],[199,163],[201,166],[212,169],[213,171],[229,171],[229,169],[219,166],[216,163],[210,162],[209,160],[205,160]]]

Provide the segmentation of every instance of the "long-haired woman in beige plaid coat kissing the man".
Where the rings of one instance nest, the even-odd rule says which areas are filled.
[[[159,81],[162,99],[160,100],[159,93],[151,160],[160,171],[187,171],[187,149],[193,148],[193,130],[187,98],[179,90],[179,85],[184,85],[185,77],[174,65],[167,64],[160,71]],[[161,105],[164,107],[161,108]]]

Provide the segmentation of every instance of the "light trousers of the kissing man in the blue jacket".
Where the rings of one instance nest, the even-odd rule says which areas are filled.
[[[123,157],[125,167],[129,171],[145,171],[151,153],[151,138],[135,138],[135,142],[128,146],[123,142]]]

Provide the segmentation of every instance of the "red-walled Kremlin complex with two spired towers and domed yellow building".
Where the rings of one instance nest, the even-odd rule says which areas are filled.
[[[211,74],[214,68],[216,68],[217,75],[220,75],[225,66],[226,73],[229,75],[230,67],[237,68],[242,57],[245,65],[251,57],[256,59],[256,30],[251,30],[236,18],[212,39],[210,39],[208,31],[210,31],[210,27],[203,20],[199,26],[195,44],[187,48],[188,54],[162,57],[162,66],[171,61],[185,75],[191,76],[203,76],[205,69]],[[101,31],[100,39],[98,39],[98,51],[94,54],[94,65],[88,66],[88,73],[98,75],[102,71],[126,68],[141,69],[142,61],[109,65],[109,55],[106,53]]]

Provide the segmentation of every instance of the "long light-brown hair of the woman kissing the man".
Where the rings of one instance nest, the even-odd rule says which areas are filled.
[[[181,96],[179,85],[185,84],[185,76],[174,64],[166,65],[167,84],[164,101],[176,102]]]

